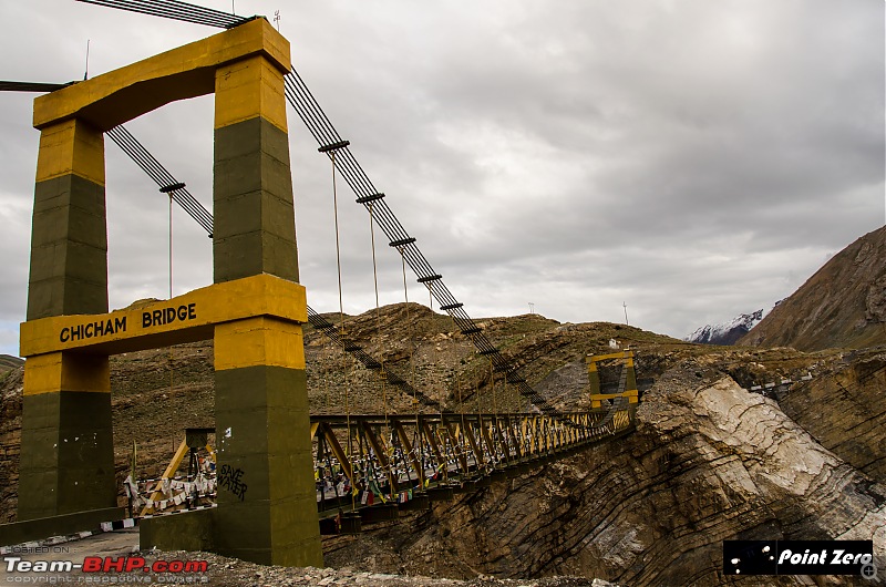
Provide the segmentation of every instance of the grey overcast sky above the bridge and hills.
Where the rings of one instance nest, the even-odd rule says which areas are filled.
[[[228,0],[200,0],[230,11]],[[884,2],[277,2],[292,63],[473,317],[535,311],[684,337],[769,309],[884,223]],[[0,4],[0,79],[91,78],[218,32],[73,0]],[[0,352],[24,319],[39,133],[0,94]],[[338,309],[330,165],[290,109],[301,282]],[[213,101],[127,123],[212,209]],[[168,296],[168,203],[106,141],[111,307]],[[340,186],[342,183],[339,184]],[[340,190],[344,309],[374,307]],[[175,210],[174,294],[212,282]],[[380,238],[381,303],[403,301]],[[410,276],[410,299],[427,292]]]

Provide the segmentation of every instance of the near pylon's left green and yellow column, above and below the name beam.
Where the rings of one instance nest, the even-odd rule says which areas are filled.
[[[107,311],[102,132],[41,128],[28,320]],[[106,357],[56,352],[24,364],[19,519],[116,506]]]

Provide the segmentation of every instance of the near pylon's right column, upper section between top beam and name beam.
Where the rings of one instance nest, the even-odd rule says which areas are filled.
[[[298,281],[282,84],[280,70],[264,56],[216,74],[216,284],[262,272]]]

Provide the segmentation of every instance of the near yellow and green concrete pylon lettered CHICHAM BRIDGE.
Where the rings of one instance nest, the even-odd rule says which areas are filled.
[[[213,339],[218,506],[209,515],[153,518],[142,546],[175,548],[196,524],[220,554],[322,566],[284,91],[289,70],[288,41],[259,18],[34,101],[41,137],[21,325],[14,532],[65,532],[116,511],[109,356]],[[109,312],[103,133],[205,94],[215,94],[214,284]],[[164,544],[144,542],[154,538]]]

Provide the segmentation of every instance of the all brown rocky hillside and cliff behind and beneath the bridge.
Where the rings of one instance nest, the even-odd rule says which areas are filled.
[[[382,310],[380,317],[373,311],[347,319],[353,340],[447,405],[457,405],[460,397],[468,408],[488,400],[488,363],[451,320],[415,305]],[[641,398],[637,431],[435,503],[431,511],[369,526],[359,537],[327,539],[327,564],[434,577],[574,575],[621,585],[723,585],[734,580],[720,570],[721,543],[728,538],[873,538],[880,553],[886,547],[886,359],[876,350],[718,348],[619,325],[560,325],[539,316],[483,325],[523,365],[527,380],[563,409],[587,405],[587,353],[608,352],[611,339],[633,348],[638,378],[651,385]],[[370,373],[319,332],[306,329],[305,340],[313,412],[341,409],[346,373],[356,410],[379,409],[380,390]],[[121,480],[133,441],[141,474],[153,476],[185,426],[213,425],[212,362],[210,344],[176,347],[172,358],[168,350],[114,358]],[[807,373],[813,379],[779,398],[781,405],[742,389]],[[506,389],[496,389],[499,400],[506,398]],[[11,519],[20,369],[0,391],[1,505]],[[392,398],[391,405],[400,404],[411,408],[408,399]],[[832,583],[841,580],[847,583]]]

